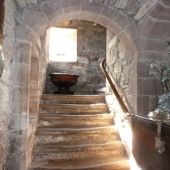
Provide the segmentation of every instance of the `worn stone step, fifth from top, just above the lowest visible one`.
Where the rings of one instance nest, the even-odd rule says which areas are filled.
[[[88,145],[85,145],[85,147],[42,147],[42,150],[39,147],[33,153],[33,162],[49,163],[49,161],[52,161],[56,164],[67,161],[74,162],[75,160],[83,161],[86,159],[101,159],[113,156],[122,156],[123,158],[125,156],[124,148],[120,142],[100,145],[99,147],[88,147]]]

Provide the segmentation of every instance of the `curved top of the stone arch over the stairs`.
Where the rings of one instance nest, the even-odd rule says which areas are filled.
[[[55,26],[64,20],[87,20],[100,24],[113,32],[119,37],[122,43],[131,49],[132,55],[136,54],[136,47],[133,41],[138,39],[138,28],[136,22],[129,18],[122,11],[115,11],[113,9],[103,9],[102,6],[89,5],[82,7],[80,4],[73,6],[56,6],[58,3],[52,1],[50,5],[53,6],[48,14],[48,5],[39,5],[38,7],[25,7],[19,16],[18,24],[16,26],[16,39],[22,42],[33,42],[44,33],[50,26]],[[89,8],[88,8],[89,7]],[[57,10],[56,10],[57,9]],[[108,10],[108,11],[107,11]],[[104,11],[107,11],[105,13]],[[114,15],[115,14],[115,15]],[[53,16],[53,17],[52,17]],[[25,54],[26,55],[26,54]],[[30,58],[30,53],[24,58]],[[28,60],[30,61],[30,60]],[[31,65],[31,63],[27,63]],[[22,70],[21,70],[22,71]],[[30,72],[30,70],[28,70]],[[27,74],[29,82],[29,74]],[[24,78],[24,80],[26,77]],[[23,81],[22,79],[20,79]],[[29,90],[29,85],[25,85],[25,90]],[[29,106],[28,106],[29,107]],[[28,109],[26,109],[28,110]],[[21,110],[22,113],[22,110]]]

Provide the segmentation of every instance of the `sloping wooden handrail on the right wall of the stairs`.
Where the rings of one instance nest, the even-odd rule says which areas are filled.
[[[120,87],[117,85],[116,81],[114,80],[114,78],[109,75],[108,71],[106,70],[106,59],[104,59],[101,63],[100,63],[100,67],[106,77],[106,79],[108,80],[109,84],[110,84],[110,87],[112,88],[122,110],[125,112],[125,113],[128,113],[128,114],[131,114],[131,109],[130,109],[130,105],[125,97],[125,95],[123,94],[122,90],[120,89]],[[121,94],[120,94],[121,93]],[[123,100],[123,98],[124,100]]]

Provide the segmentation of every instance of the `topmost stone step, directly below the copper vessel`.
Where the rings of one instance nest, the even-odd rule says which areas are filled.
[[[43,94],[41,103],[57,104],[95,104],[106,103],[104,95],[56,95]]]

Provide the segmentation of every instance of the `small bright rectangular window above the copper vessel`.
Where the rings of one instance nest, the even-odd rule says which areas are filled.
[[[51,27],[48,29],[49,60],[58,62],[77,61],[77,30]]]

